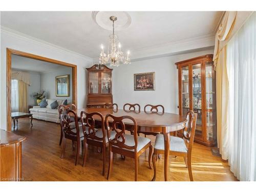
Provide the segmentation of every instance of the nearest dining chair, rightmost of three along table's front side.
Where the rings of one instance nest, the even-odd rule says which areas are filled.
[[[151,140],[145,137],[138,137],[137,134],[127,135],[125,134],[125,123],[129,121],[129,124],[133,125],[134,132],[137,133],[137,122],[134,118],[130,116],[120,116],[116,117],[111,114],[105,116],[105,124],[107,129],[107,134],[109,138],[109,171],[108,180],[112,172],[113,165],[113,154],[120,154],[126,157],[131,157],[135,159],[135,181],[137,181],[138,175],[138,158],[145,152],[147,148],[150,148],[150,153],[148,154],[148,165],[151,166],[151,157],[153,154],[153,146],[151,145]],[[115,132],[114,139],[111,139],[111,130]]]

